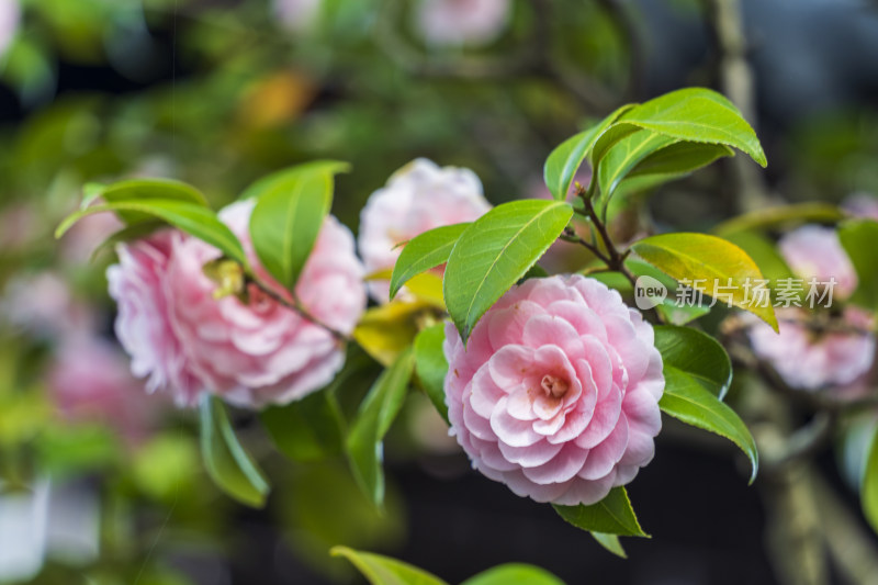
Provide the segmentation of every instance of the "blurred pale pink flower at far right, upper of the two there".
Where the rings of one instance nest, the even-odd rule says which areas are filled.
[[[780,254],[797,277],[808,281],[835,279],[833,299],[844,300],[857,288],[857,273],[832,227],[803,225],[777,243]]]

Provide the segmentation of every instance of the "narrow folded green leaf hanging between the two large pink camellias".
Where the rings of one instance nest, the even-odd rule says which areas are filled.
[[[346,442],[357,483],[379,506],[384,500],[383,439],[405,401],[414,358],[409,348],[379,376],[360,405]]]

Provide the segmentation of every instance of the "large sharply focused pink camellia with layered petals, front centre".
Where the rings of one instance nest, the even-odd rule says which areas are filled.
[[[446,327],[451,432],[473,466],[537,502],[594,504],[653,458],[662,357],[618,292],[582,275],[514,286],[464,348]]]

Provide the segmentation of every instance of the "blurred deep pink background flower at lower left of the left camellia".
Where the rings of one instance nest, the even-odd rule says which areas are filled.
[[[158,412],[144,394],[143,382],[132,376],[125,355],[88,334],[61,341],[49,369],[48,387],[66,420],[106,425],[128,445],[147,437]]]

